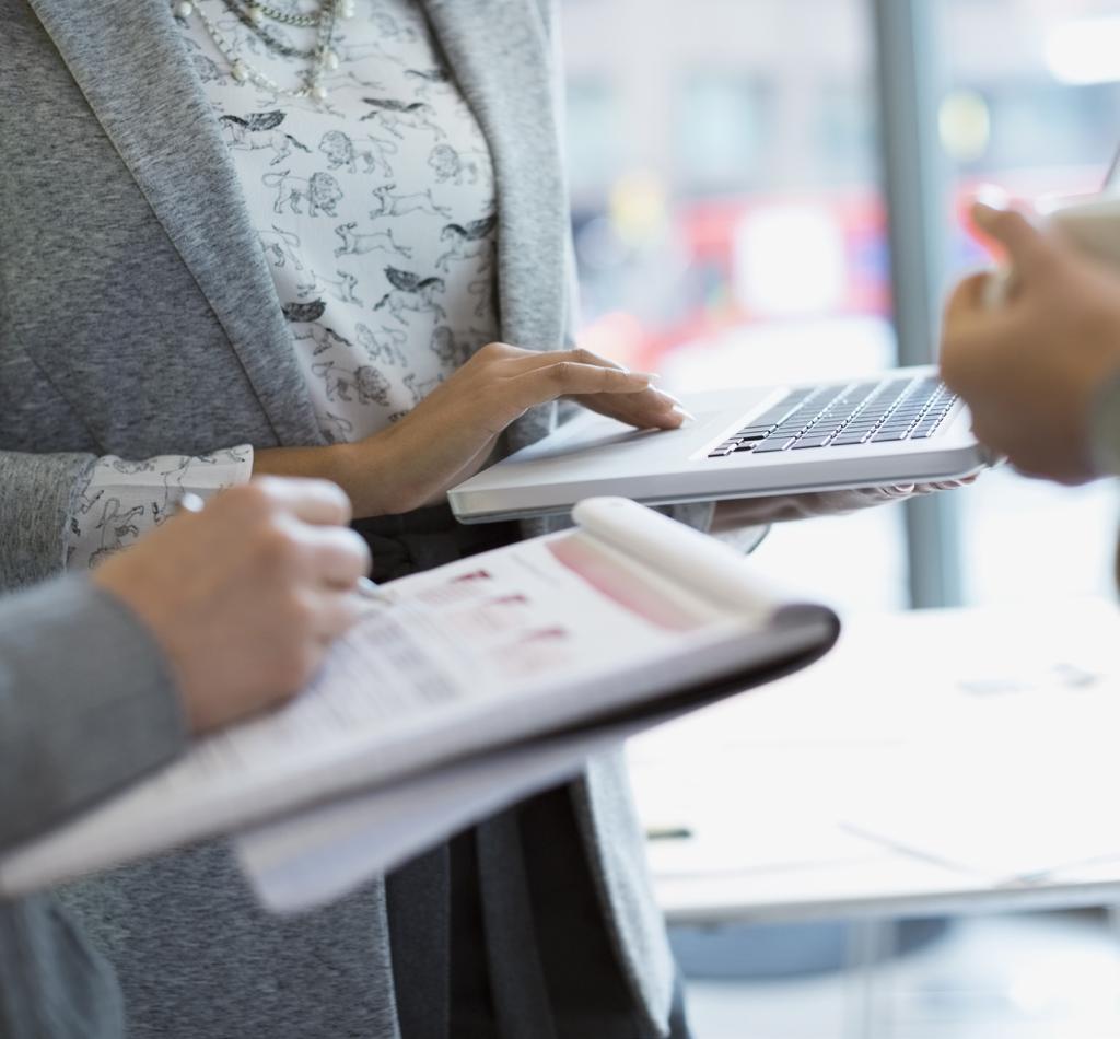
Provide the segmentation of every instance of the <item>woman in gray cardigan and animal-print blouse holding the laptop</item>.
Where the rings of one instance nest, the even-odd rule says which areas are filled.
[[[550,0],[375,0],[353,19],[361,31],[337,40],[347,0],[254,7],[0,0],[0,586],[96,558],[91,536],[127,541],[138,516],[187,486],[193,462],[338,480],[367,517],[375,572],[393,577],[519,536],[456,530],[446,509],[384,514],[438,499],[507,423],[506,450],[552,429],[558,405],[531,405],[571,392],[636,423],[681,421],[641,376],[539,356],[572,345]],[[380,35],[363,37],[371,27]],[[330,46],[284,43],[309,28]],[[424,40],[446,64],[408,64],[404,48]],[[271,69],[307,54],[306,90],[283,88]],[[408,100],[385,96],[390,79],[409,84]],[[256,111],[230,109],[233,83],[255,91]],[[473,152],[450,147],[458,131],[436,114],[459,102],[457,118],[480,131]],[[342,122],[321,137],[299,129],[333,114]],[[430,149],[418,176],[435,180],[390,182],[385,168],[418,134]],[[259,219],[251,160],[263,163],[254,182],[274,193]],[[362,176],[372,208],[346,221],[348,178]],[[452,188],[487,177],[493,213],[451,219]],[[405,269],[418,246],[404,225],[384,223],[410,216],[444,218],[446,251],[422,279]],[[321,226],[337,237],[320,254],[337,262],[309,270],[305,232]],[[464,329],[439,321],[463,261],[484,269],[487,256],[492,274],[464,291],[487,338],[517,347],[463,365]],[[371,292],[365,279],[382,269],[389,283]],[[351,324],[326,325],[324,308]],[[427,377],[390,381],[429,318],[444,367],[432,375],[426,355]],[[368,362],[353,359],[358,349]],[[523,392],[511,391],[515,376]],[[419,408],[390,413],[405,391]],[[361,420],[346,409],[358,403],[390,424],[349,439]],[[166,458],[186,462],[155,461]],[[119,481],[111,492],[103,476]],[[775,517],[814,511],[786,503]],[[712,509],[679,515],[708,525]],[[687,1035],[617,756],[299,919],[261,912],[221,844],[60,897],[115,966],[140,1039]]]

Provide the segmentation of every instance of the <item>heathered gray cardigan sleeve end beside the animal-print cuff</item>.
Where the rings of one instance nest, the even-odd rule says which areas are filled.
[[[60,573],[65,530],[93,455],[0,451],[0,590]]]

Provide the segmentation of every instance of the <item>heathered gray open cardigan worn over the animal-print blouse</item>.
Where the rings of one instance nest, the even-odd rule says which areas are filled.
[[[558,348],[572,265],[551,2],[422,2],[494,153],[503,338]],[[323,442],[169,7],[0,0],[0,587],[58,571],[99,455]],[[511,446],[556,422],[528,415]],[[673,964],[620,759],[573,799],[624,974],[663,1035]],[[212,843],[65,901],[116,966],[136,1039],[166,1004],[183,1017],[161,1037],[398,1035],[380,883],[271,919]]]

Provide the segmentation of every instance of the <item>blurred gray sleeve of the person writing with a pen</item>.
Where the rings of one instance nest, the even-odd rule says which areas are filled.
[[[0,600],[0,848],[186,743],[164,656],[115,598],[72,578]]]

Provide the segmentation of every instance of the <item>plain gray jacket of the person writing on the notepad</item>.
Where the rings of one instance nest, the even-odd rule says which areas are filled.
[[[184,747],[147,629],[80,580],[0,601],[0,849],[50,829]],[[0,1036],[114,1039],[112,971],[48,898],[0,901]]]

